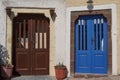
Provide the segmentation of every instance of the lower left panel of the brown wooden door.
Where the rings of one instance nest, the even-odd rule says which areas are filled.
[[[17,52],[16,70],[20,74],[30,74],[30,55],[28,52]]]

